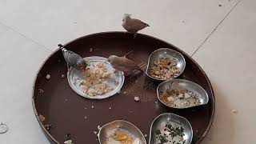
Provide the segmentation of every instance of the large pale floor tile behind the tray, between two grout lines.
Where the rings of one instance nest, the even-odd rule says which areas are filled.
[[[143,34],[193,54],[238,0],[0,0],[0,22],[51,50],[82,35],[123,30],[122,14],[150,24]]]

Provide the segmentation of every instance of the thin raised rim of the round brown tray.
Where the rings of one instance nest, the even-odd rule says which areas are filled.
[[[88,37],[92,37],[92,36],[96,36],[96,35],[100,35],[100,34],[126,34],[126,32],[124,31],[103,31],[103,32],[98,32],[98,33],[94,33],[94,34],[86,34],[86,35],[83,35],[81,37],[78,37],[78,38],[75,38],[74,40],[71,40],[70,42],[66,42],[63,46],[66,46],[66,45],[69,45],[70,43],[72,42],[75,42],[75,41],[78,41],[82,38],[88,38]],[[150,36],[150,35],[146,35],[146,34],[137,34],[137,37],[145,37],[145,38],[152,38],[152,39],[155,39],[159,42],[164,42],[170,46],[173,46],[174,48],[176,48],[177,50],[179,50],[182,54],[185,54],[188,58],[191,59],[192,62],[194,62],[194,64],[196,66],[198,66],[199,70],[202,71],[202,74],[205,76],[206,78],[206,81],[208,83],[208,85],[210,86],[210,93],[212,94],[212,107],[213,107],[213,111],[212,111],[212,114],[210,115],[210,121],[209,121],[209,125],[207,126],[205,132],[202,134],[202,137],[198,139],[198,142],[196,143],[201,143],[202,140],[206,137],[206,135],[208,134],[213,122],[214,122],[214,116],[215,116],[215,95],[214,95],[214,89],[213,89],[213,86],[211,85],[211,82],[210,82],[210,79],[208,78],[208,76],[206,75],[206,72],[204,70],[202,70],[202,67],[198,65],[198,62],[195,62],[194,61],[194,58],[192,58],[189,54],[186,54],[185,51],[181,50],[178,48],[178,46],[174,46],[173,44],[171,44],[170,42],[166,42],[160,38],[155,38],[153,36]],[[56,45],[57,47],[57,45]],[[43,130],[43,133],[46,135],[46,138],[48,138],[48,140],[50,142],[54,142],[54,143],[58,143],[59,142],[48,132],[48,130],[46,130],[45,126],[43,126],[42,122],[40,122],[39,120],[39,115],[38,115],[38,111],[36,109],[36,106],[35,106],[35,102],[34,102],[34,87],[36,85],[36,82],[37,82],[37,79],[38,79],[38,74],[39,72],[42,70],[42,67],[46,64],[46,62],[55,54],[57,53],[59,50],[56,49],[56,50],[53,50],[52,53],[42,62],[42,65],[39,67],[37,73],[34,75],[34,82],[33,82],[33,87],[32,87],[32,97],[31,97],[31,100],[32,100],[32,107],[33,107],[33,110],[34,110],[34,114],[35,114],[35,117],[37,118],[38,120],[38,123],[39,125],[41,126],[41,129]]]

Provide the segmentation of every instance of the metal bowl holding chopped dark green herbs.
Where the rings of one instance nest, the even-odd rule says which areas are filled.
[[[186,118],[165,113],[152,122],[149,144],[190,144],[192,138],[192,126]]]

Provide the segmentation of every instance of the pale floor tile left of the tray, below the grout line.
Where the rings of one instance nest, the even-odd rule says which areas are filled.
[[[1,24],[0,51],[0,122],[9,126],[0,134],[0,143],[48,143],[34,116],[31,94],[34,77],[50,51]]]

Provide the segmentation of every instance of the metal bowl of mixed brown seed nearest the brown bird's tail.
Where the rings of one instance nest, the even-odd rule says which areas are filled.
[[[185,58],[169,48],[154,50],[150,54],[146,74],[154,80],[166,81],[177,78],[185,70]]]

